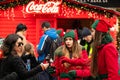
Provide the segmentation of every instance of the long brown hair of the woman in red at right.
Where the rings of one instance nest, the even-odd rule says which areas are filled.
[[[91,61],[91,73],[93,77],[96,77],[98,74],[98,64],[97,64],[97,57],[98,57],[98,46],[101,45],[103,38],[103,33],[99,31],[95,31],[95,37],[93,41],[93,52],[92,52],[92,61]]]

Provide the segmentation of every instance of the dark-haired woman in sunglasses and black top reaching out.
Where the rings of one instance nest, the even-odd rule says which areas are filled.
[[[1,47],[3,50],[3,60],[0,67],[0,78],[3,78],[7,74],[16,72],[18,80],[36,80],[37,73],[44,71],[48,67],[48,63],[40,64],[35,68],[28,71],[25,67],[21,54],[17,53],[17,50],[23,46],[22,37],[16,34],[8,35]]]

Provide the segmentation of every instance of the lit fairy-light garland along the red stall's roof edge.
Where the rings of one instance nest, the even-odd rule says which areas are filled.
[[[8,8],[14,8],[18,5],[25,5],[28,4],[30,1],[32,0],[14,0],[13,2],[7,3],[7,4],[0,4],[0,9],[2,10],[6,10]],[[35,0],[35,1],[39,1],[39,0]],[[61,0],[41,0],[44,2],[47,1],[61,1]],[[97,9],[97,8],[93,8],[93,7],[89,7],[87,5],[83,5],[79,3],[79,0],[74,0],[74,2],[71,2],[72,0],[62,0],[62,3],[67,5],[68,7],[72,7],[72,8],[77,8],[78,10],[85,10],[85,11],[89,11],[89,12],[96,12],[102,15],[106,15],[108,18],[112,17],[114,14],[112,12],[108,12],[107,10],[103,10],[103,9]]]

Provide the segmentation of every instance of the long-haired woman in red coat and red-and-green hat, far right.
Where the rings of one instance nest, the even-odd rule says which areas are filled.
[[[96,20],[92,26],[95,30],[91,75],[95,80],[120,80],[118,74],[118,51],[109,34],[110,26],[104,20]]]

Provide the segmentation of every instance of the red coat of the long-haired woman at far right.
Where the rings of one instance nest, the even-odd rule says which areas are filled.
[[[101,80],[120,80],[118,78],[118,51],[113,43],[98,47],[98,74],[107,75]]]

